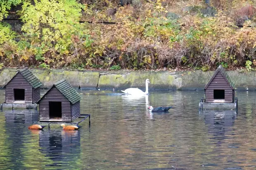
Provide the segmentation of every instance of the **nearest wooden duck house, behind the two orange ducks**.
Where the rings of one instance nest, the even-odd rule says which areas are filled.
[[[66,80],[55,83],[38,101],[39,121],[72,122],[80,117],[79,93]]]

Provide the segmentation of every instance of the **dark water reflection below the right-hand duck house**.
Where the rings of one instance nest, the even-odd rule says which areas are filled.
[[[208,126],[209,133],[213,134],[213,139],[217,140],[217,144],[227,138],[227,133],[232,130],[232,126],[237,117],[237,112],[232,110],[207,110],[202,111],[204,121]]]

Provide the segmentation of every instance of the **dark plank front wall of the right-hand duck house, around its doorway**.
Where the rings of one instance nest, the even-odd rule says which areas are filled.
[[[225,90],[225,102],[233,102],[233,90],[220,72],[218,72],[205,90],[206,102],[213,102],[213,90]]]

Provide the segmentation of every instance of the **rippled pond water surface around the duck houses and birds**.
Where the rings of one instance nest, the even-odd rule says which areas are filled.
[[[0,112],[0,169],[256,169],[255,92],[236,93],[237,114],[199,114],[203,91],[150,92],[144,98],[79,93],[91,125],[85,120],[72,133],[61,127],[31,131],[36,116]],[[0,96],[4,102],[3,90]],[[173,109],[149,114],[149,105]]]

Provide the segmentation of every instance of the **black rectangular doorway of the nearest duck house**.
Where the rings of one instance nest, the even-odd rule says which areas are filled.
[[[62,102],[49,102],[49,117],[62,120]]]

